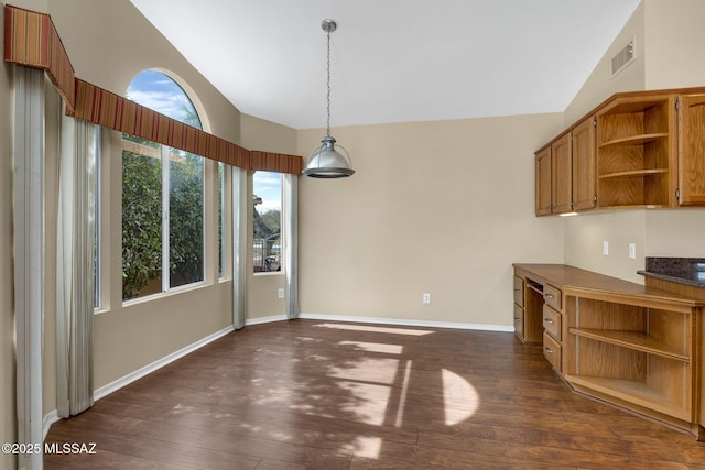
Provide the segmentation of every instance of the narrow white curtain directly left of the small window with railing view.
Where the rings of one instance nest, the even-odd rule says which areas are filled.
[[[232,326],[245,327],[248,221],[247,170],[232,167]]]

